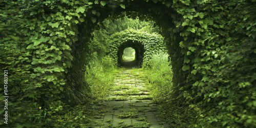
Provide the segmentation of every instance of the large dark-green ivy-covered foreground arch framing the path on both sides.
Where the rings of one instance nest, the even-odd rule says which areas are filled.
[[[255,5],[255,0],[3,0],[0,63],[9,71],[13,103],[8,125],[47,123],[65,113],[67,104],[89,99],[84,73],[92,32],[105,18],[126,11],[154,20],[167,42],[173,68],[172,90],[164,95],[169,126],[255,127]]]

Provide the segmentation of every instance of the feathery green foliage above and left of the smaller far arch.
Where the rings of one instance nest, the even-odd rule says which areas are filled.
[[[114,33],[124,31],[128,28],[141,29],[148,33],[160,32],[158,26],[154,26],[153,21],[145,22],[144,20],[139,20],[138,17],[128,18],[124,17],[117,18],[113,20],[113,17],[108,17],[103,20],[103,22],[98,23],[97,29],[93,31],[93,39],[89,43],[90,53],[97,52],[99,56],[104,56],[108,43],[107,39]]]

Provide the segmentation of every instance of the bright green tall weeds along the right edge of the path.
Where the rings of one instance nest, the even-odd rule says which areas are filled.
[[[168,54],[156,54],[147,63],[143,65],[146,70],[149,87],[152,90],[151,95],[157,103],[165,102],[172,88],[172,66],[168,60]]]

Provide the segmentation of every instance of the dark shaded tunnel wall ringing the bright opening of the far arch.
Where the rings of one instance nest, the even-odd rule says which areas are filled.
[[[123,60],[123,50],[125,48],[131,47],[135,50],[135,60],[129,61],[129,60]],[[128,40],[124,42],[119,48],[118,48],[118,66],[119,67],[125,67],[125,68],[141,68],[142,62],[143,62],[143,54],[144,54],[144,46],[134,40]]]

